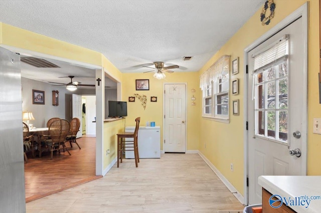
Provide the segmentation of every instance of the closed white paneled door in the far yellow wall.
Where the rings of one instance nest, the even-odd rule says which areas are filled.
[[[165,84],[165,152],[186,151],[186,84]]]

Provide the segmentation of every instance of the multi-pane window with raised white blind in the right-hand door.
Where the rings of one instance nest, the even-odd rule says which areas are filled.
[[[255,135],[286,143],[288,137],[289,35],[252,55]]]

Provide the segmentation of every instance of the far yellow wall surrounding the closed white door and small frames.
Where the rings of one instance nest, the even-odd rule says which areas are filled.
[[[135,90],[135,79],[149,79],[149,90]],[[185,83],[187,82],[187,150],[198,149],[198,108],[201,99],[198,92],[192,93],[191,89],[199,88],[198,72],[174,72],[166,73],[166,78],[157,80],[153,77],[153,72],[149,73],[123,73],[122,75],[122,100],[128,101],[129,96],[134,93],[147,96],[147,104],[145,110],[140,104],[138,98],[135,102],[128,102],[128,116],[126,117],[126,125],[134,125],[135,118],[140,116],[140,125],[146,125],[146,121],[155,121],[156,125],[161,126],[161,141],[163,150],[163,95],[164,83]],[[192,105],[192,96],[196,97],[196,105]],[[156,96],[157,102],[150,102],[150,96]]]

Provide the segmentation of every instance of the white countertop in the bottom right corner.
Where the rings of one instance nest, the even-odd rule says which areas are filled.
[[[259,176],[258,183],[271,194],[278,194],[283,203],[296,212],[321,212],[321,176]],[[301,196],[306,196],[303,199]],[[312,197],[311,196],[318,196]],[[296,199],[295,199],[296,198]],[[299,203],[299,205],[295,205]],[[308,203],[309,202],[309,203]]]

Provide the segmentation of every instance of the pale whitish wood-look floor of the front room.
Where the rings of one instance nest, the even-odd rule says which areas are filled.
[[[117,163],[102,178],[28,202],[31,212],[217,212],[244,206],[198,154]]]

